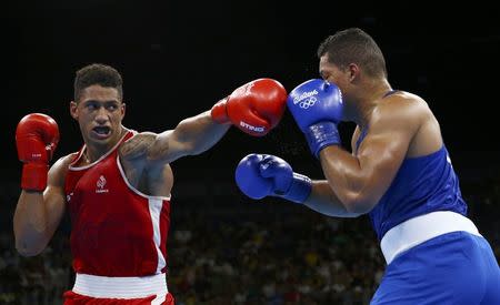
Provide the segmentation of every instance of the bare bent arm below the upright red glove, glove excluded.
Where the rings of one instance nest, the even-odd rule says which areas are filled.
[[[56,162],[42,192],[21,191],[13,216],[16,248],[23,256],[40,254],[52,238],[64,214],[64,175],[70,156]]]

